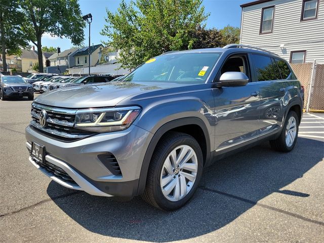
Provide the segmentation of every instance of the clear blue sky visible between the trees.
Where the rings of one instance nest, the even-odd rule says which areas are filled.
[[[241,18],[241,8],[239,5],[252,2],[252,0],[204,0],[205,11],[210,13],[206,22],[208,28],[223,28],[226,25],[239,27]],[[106,8],[115,12],[119,6],[118,0],[79,0],[82,14],[91,13],[93,21],[91,23],[91,45],[107,41],[106,36],[100,35],[100,31],[105,25]],[[85,29],[85,44],[88,45],[88,24]],[[43,35],[42,46],[60,47],[61,51],[69,49],[72,44],[67,38],[53,37],[47,33]]]

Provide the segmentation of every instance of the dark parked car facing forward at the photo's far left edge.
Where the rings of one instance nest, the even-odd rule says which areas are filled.
[[[28,97],[28,100],[34,99],[33,88],[24,78],[16,75],[2,75],[0,77],[1,100],[24,96]]]

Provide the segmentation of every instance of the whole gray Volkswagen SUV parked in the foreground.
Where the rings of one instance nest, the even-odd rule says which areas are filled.
[[[297,142],[304,90],[289,64],[247,46],[173,51],[120,82],[37,97],[26,128],[29,161],[92,195],[142,197],[176,210],[204,168],[269,140]]]

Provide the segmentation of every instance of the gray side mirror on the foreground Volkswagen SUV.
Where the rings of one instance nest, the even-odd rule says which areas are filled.
[[[245,86],[249,82],[249,78],[242,72],[224,72],[219,78],[219,83],[215,83],[216,87],[233,87]]]

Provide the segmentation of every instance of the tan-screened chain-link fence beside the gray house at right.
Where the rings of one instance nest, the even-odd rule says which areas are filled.
[[[324,64],[301,63],[291,67],[305,88],[304,108],[324,110]]]

